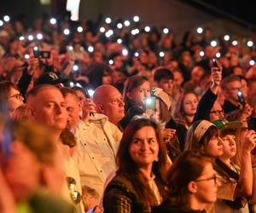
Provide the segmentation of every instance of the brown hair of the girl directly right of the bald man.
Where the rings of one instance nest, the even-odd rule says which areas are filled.
[[[148,78],[143,75],[136,75],[130,78],[127,78],[125,81],[125,86],[123,90],[123,99],[125,102],[125,112],[132,106],[138,105],[143,106],[143,103],[138,103],[137,101],[131,100],[128,98],[127,93],[131,92],[132,89],[136,89],[138,86],[142,85],[144,82],[149,82]]]

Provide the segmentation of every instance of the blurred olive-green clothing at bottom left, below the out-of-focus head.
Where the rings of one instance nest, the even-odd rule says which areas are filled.
[[[57,197],[46,191],[34,193],[29,201],[32,210],[37,213],[73,213],[75,208],[73,204],[68,203],[65,199]]]

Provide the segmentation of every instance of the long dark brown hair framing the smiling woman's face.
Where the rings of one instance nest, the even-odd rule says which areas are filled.
[[[156,176],[156,183],[160,189],[160,193],[163,197],[165,197],[164,185],[166,182],[166,147],[162,141],[159,126],[152,120],[140,118],[132,121],[125,128],[122,140],[120,141],[119,151],[117,153],[117,165],[119,167],[117,174],[125,176],[131,180],[134,188],[137,191],[139,199],[142,200],[144,204],[154,205],[156,204],[154,193],[148,186],[148,182],[143,178],[141,172],[139,172],[137,164],[132,160],[130,155],[130,147],[133,136],[136,134],[137,130],[142,129],[145,126],[153,127],[156,139],[158,141],[159,159],[158,161],[154,161],[152,171]]]

